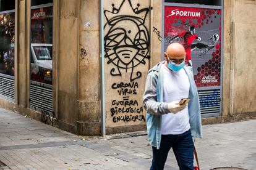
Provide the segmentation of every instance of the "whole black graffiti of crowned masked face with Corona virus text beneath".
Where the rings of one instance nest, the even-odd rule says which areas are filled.
[[[143,87],[139,87],[137,80],[142,77],[138,66],[150,59],[150,36],[145,25],[150,9],[140,4],[134,7],[130,0],[122,0],[118,7],[111,4],[111,10],[104,10],[106,64],[111,77],[121,77],[119,82],[109,84],[109,91],[115,96],[108,102],[113,123],[145,122],[140,96],[137,96]]]

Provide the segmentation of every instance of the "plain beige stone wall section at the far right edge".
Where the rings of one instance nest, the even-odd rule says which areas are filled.
[[[256,1],[233,1],[233,114],[256,111]]]

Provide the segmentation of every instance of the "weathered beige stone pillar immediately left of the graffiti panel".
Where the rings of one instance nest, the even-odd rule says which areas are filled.
[[[100,1],[80,0],[79,134],[100,134]]]

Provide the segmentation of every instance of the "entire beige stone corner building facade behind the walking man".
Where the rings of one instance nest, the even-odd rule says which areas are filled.
[[[203,124],[256,118],[255,0],[0,2],[2,108],[85,136],[145,130],[147,72],[195,30]]]

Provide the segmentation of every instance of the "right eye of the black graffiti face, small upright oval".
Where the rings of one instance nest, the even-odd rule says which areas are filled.
[[[137,46],[138,49],[147,49],[148,48],[148,34],[145,31],[139,31],[134,39],[134,45]]]

